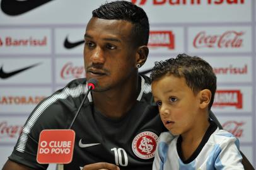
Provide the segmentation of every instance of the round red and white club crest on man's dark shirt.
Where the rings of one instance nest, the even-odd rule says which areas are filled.
[[[153,132],[141,132],[132,141],[132,150],[141,159],[151,159],[156,151],[158,135]]]

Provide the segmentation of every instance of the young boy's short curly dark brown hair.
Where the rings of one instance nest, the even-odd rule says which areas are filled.
[[[171,58],[154,64],[150,75],[152,81],[160,79],[166,74],[172,74],[173,76],[184,77],[187,86],[192,89],[194,94],[202,89],[209,89],[212,97],[208,110],[211,110],[217,85],[216,75],[208,62],[197,56],[178,54],[175,59]]]

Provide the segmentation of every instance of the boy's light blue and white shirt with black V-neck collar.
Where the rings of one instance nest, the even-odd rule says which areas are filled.
[[[238,139],[226,130],[213,126],[211,123],[201,144],[186,161],[180,159],[181,137],[175,137],[170,132],[161,133],[153,170],[244,169]]]

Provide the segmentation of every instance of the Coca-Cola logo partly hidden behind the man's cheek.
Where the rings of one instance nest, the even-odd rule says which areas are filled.
[[[62,79],[73,79],[85,77],[84,66],[75,66],[72,62],[67,62],[61,69]]]

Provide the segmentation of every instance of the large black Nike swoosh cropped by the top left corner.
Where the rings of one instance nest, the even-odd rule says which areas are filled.
[[[32,9],[37,8],[38,6],[41,6],[42,4],[48,3],[49,1],[52,0],[2,0],[1,9],[4,13],[15,16],[26,13]]]

